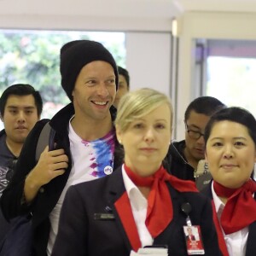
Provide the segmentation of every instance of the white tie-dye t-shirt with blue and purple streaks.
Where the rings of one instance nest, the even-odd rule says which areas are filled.
[[[48,255],[50,255],[55,242],[61,206],[67,189],[71,185],[104,177],[113,172],[113,151],[116,140],[114,130],[108,132],[106,136],[100,139],[87,142],[81,139],[75,131],[73,131],[72,125],[69,124],[68,136],[73,166],[67,184],[61,193],[61,197],[53,211],[49,214],[51,230],[47,247]]]

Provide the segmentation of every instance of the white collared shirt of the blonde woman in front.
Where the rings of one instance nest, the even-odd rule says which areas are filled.
[[[131,181],[130,177],[125,172],[124,165],[122,166],[122,174],[125,183],[125,189],[131,203],[131,211],[137,226],[138,235],[140,237],[142,247],[152,245],[153,237],[148,232],[145,224],[147,216],[148,201],[143,196],[137,186]]]

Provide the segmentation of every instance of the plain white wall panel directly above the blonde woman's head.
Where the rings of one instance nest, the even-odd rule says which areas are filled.
[[[127,32],[126,67],[131,90],[149,87],[171,94],[171,33]]]

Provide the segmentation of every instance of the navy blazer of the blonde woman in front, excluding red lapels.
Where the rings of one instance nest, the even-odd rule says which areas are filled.
[[[192,207],[189,215],[191,222],[201,226],[205,255],[221,255],[212,221],[211,202],[200,193],[178,192],[169,183],[168,187],[172,197],[173,219],[166,230],[154,238],[154,244],[167,245],[169,255],[187,255],[183,233],[187,216],[181,211],[181,205],[189,202]],[[70,187],[61,209],[52,256],[129,256],[131,243],[114,206],[124,192],[120,167],[108,177]]]

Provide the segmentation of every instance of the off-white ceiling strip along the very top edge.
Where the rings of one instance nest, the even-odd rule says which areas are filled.
[[[0,0],[3,15],[172,18],[184,11],[256,12],[256,0]]]

